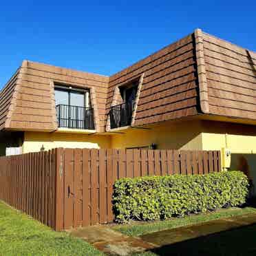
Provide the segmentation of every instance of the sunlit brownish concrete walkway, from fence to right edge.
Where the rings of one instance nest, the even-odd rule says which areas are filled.
[[[71,233],[76,237],[85,239],[104,253],[125,256],[250,224],[256,224],[256,214],[228,217],[202,224],[149,233],[141,237],[129,237],[103,225],[79,228]]]

